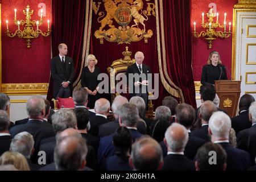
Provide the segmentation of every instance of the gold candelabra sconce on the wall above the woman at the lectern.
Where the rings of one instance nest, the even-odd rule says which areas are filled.
[[[216,17],[217,16],[217,17]],[[196,22],[194,22],[194,31],[193,35],[196,38],[203,38],[205,37],[205,40],[208,42],[209,49],[212,48],[213,40],[217,38],[229,38],[231,35],[231,22],[229,22],[229,31],[226,31],[226,13],[224,14],[224,24],[220,24],[218,22],[218,13],[213,13],[213,9],[209,10],[209,13],[207,13],[208,22],[204,22],[204,13],[202,13],[202,22],[201,27],[206,28],[205,31],[201,31],[200,33],[196,32]],[[213,21],[213,18],[216,17],[216,22]],[[224,28],[224,31],[217,31],[216,28]]]

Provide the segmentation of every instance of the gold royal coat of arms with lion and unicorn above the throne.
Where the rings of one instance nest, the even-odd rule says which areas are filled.
[[[147,10],[143,10],[143,0],[103,0],[103,2],[106,12],[98,13],[97,20],[101,26],[94,32],[94,36],[100,39],[101,44],[104,43],[104,39],[118,44],[130,44],[144,39],[144,43],[147,43],[153,32],[150,29],[146,30],[146,21],[151,11],[155,15],[154,3],[147,3]],[[93,3],[96,14],[100,4],[101,2],[96,7]],[[113,25],[113,20],[118,23],[118,27]]]

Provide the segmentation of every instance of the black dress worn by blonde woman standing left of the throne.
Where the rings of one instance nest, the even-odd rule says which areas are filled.
[[[90,72],[88,67],[82,68],[81,84],[82,87],[87,87],[92,92],[96,89],[100,80],[97,80],[98,75],[101,73],[99,67],[95,67],[94,72]],[[98,93],[93,96],[88,94],[88,104],[87,107],[94,109],[95,101],[98,99]]]

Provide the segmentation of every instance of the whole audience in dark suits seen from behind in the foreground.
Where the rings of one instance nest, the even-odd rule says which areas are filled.
[[[51,112],[47,100],[31,96],[26,105],[28,118],[10,128],[6,112],[10,98],[0,93],[0,169],[256,170],[254,97],[243,95],[239,115],[230,119],[212,102],[216,98],[214,86],[201,86],[200,94],[200,122],[191,132],[195,109],[178,105],[171,96],[156,108],[155,121],[143,117],[146,106],[141,97],[129,102],[117,96],[111,105],[115,121],[109,121],[109,101],[96,101],[95,114],[86,108],[88,93],[83,88],[73,91],[74,111]],[[46,166],[39,165],[41,150],[46,152]],[[216,151],[217,165],[209,164],[210,151]]]

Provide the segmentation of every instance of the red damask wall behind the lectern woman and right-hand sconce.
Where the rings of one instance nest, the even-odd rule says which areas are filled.
[[[202,21],[202,13],[204,12],[204,19],[208,20],[206,13],[209,11],[209,4],[215,3],[217,5],[217,12],[219,14],[218,21],[220,23],[224,23],[224,13],[227,13],[226,22],[227,22],[227,30],[228,30],[228,22],[233,24],[233,6],[238,2],[237,0],[191,0],[192,2],[192,17],[191,17],[191,27],[193,28],[193,22],[196,22],[196,31],[203,31],[203,28],[200,28],[200,23]],[[214,18],[214,21],[216,18]],[[233,27],[233,26],[232,26]],[[231,29],[232,29],[231,27]],[[222,29],[223,31],[223,29]],[[216,39],[213,42],[213,48],[208,49],[208,43],[204,40],[204,38],[195,38],[193,37],[193,45],[192,45],[192,68],[193,68],[193,76],[195,81],[201,80],[201,71],[203,65],[207,64],[207,60],[209,57],[209,53],[212,51],[218,51],[221,56],[222,64],[224,64],[228,71],[232,72],[231,64],[232,64],[232,35],[226,39]],[[230,78],[230,74],[227,72],[228,78]]]

